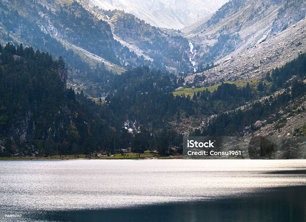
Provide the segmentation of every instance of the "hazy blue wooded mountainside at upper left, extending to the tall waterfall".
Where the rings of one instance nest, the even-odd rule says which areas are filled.
[[[0,43],[24,43],[55,57],[62,55],[69,85],[80,87],[93,97],[108,90],[113,73],[120,74],[127,68],[149,65],[176,72],[191,68],[187,39],[175,31],[170,35],[144,24],[122,11],[107,12],[120,18],[112,19],[112,23],[106,12],[97,10],[101,11],[97,15],[76,1],[23,0],[20,5],[19,1],[10,0],[1,1],[0,6]],[[152,32],[151,39],[124,38],[119,29],[133,21],[133,31],[144,37]],[[129,32],[128,28],[125,30]]]

